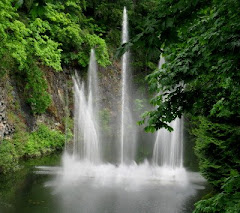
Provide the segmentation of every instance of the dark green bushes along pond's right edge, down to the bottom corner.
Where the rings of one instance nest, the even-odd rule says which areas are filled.
[[[194,213],[236,213],[240,209],[240,129],[231,122],[195,119],[195,151],[200,171],[215,195],[196,203]]]

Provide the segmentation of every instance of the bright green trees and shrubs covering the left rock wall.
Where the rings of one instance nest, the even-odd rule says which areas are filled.
[[[12,138],[0,142],[0,174],[15,170],[21,158],[61,149],[65,141],[63,133],[44,125],[29,132],[6,82],[13,79],[32,114],[39,115],[52,102],[45,67],[55,72],[67,66],[86,67],[91,48],[96,49],[99,64],[110,63],[106,43],[84,10],[84,0],[0,1],[0,83],[10,87],[7,115],[16,127]]]

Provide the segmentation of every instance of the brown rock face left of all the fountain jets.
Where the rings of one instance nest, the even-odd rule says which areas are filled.
[[[42,67],[42,70],[52,103],[41,115],[32,113],[26,101],[25,85],[17,77],[5,75],[4,79],[0,79],[0,143],[4,138],[11,137],[15,127],[18,131],[32,132],[39,124],[46,124],[52,129],[65,131],[66,108],[70,108],[71,112],[73,106],[72,70],[64,69],[59,73],[47,67]]]

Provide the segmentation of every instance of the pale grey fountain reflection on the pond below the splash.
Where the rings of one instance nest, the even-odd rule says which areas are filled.
[[[195,194],[195,189],[149,184],[134,190],[116,185],[97,187],[86,181],[62,187],[55,193],[59,200],[57,212],[174,213],[186,212],[185,201]]]

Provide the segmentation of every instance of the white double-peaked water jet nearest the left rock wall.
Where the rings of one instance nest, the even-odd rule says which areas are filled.
[[[73,154],[91,163],[100,162],[100,140],[98,131],[98,82],[97,63],[94,50],[88,69],[88,91],[77,74],[74,84],[74,147]]]

